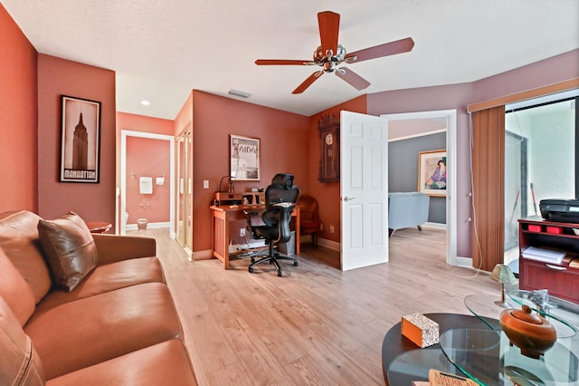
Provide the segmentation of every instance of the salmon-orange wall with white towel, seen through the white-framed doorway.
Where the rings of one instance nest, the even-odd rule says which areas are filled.
[[[168,223],[170,219],[170,157],[172,143],[167,140],[127,138],[127,207],[128,224],[138,218],[148,223]],[[133,176],[131,173],[135,173]],[[157,177],[165,177],[164,185],[157,185]],[[153,178],[153,194],[140,194],[139,177]]]

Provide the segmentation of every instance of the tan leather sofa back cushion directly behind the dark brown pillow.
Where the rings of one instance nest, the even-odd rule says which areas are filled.
[[[0,214],[0,247],[30,286],[35,303],[40,302],[52,286],[38,240],[40,219],[27,210]]]

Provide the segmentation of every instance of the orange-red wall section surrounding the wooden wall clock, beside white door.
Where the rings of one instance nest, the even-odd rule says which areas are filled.
[[[325,111],[320,111],[309,118],[309,183],[308,190],[302,193],[318,199],[319,217],[324,224],[324,230],[320,233],[321,238],[340,242],[340,184],[339,182],[321,183],[318,181],[319,157],[321,140],[319,138],[318,122],[326,116],[332,115],[339,118],[340,111],[353,111],[366,113],[367,96],[362,95],[353,100],[345,101]],[[334,233],[329,233],[329,226],[334,226]]]

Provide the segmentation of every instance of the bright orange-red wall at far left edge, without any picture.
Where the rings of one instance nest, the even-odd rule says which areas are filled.
[[[0,52],[0,212],[36,212],[37,53],[1,4]]]

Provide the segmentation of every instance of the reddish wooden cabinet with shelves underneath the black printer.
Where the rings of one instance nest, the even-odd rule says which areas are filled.
[[[519,288],[548,289],[549,294],[579,303],[579,224],[556,223],[541,217],[518,220]],[[546,263],[524,257],[529,246],[565,252],[561,263]]]

